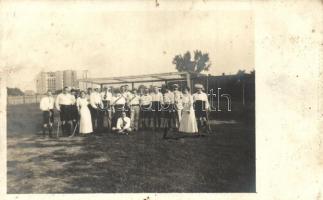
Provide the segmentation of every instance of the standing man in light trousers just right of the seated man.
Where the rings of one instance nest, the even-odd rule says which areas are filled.
[[[139,129],[139,115],[140,115],[140,96],[137,94],[137,89],[132,90],[129,97],[128,105],[130,106],[130,120],[133,131]]]

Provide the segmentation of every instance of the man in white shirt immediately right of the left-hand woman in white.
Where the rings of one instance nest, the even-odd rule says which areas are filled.
[[[90,94],[90,112],[92,119],[93,132],[96,133],[100,127],[98,124],[99,108],[102,106],[101,96],[99,88],[94,88],[94,91]]]

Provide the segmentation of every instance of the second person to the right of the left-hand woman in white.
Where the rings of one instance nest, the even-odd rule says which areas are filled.
[[[101,95],[101,112],[100,112],[100,124],[102,124],[103,129],[111,130],[111,119],[112,119],[112,110],[111,110],[111,103],[112,103],[112,93],[111,87],[105,87],[103,92],[100,93]]]

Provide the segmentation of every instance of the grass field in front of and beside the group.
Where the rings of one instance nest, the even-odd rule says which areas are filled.
[[[48,139],[36,105],[9,106],[8,193],[255,192],[253,123],[211,135],[142,131]]]

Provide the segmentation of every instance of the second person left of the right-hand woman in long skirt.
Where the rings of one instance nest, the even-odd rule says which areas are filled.
[[[167,133],[170,129],[176,127],[176,110],[175,110],[175,97],[174,93],[168,88],[165,87],[165,93],[163,95],[163,106],[162,106],[162,127],[164,128],[163,138],[167,139]]]

